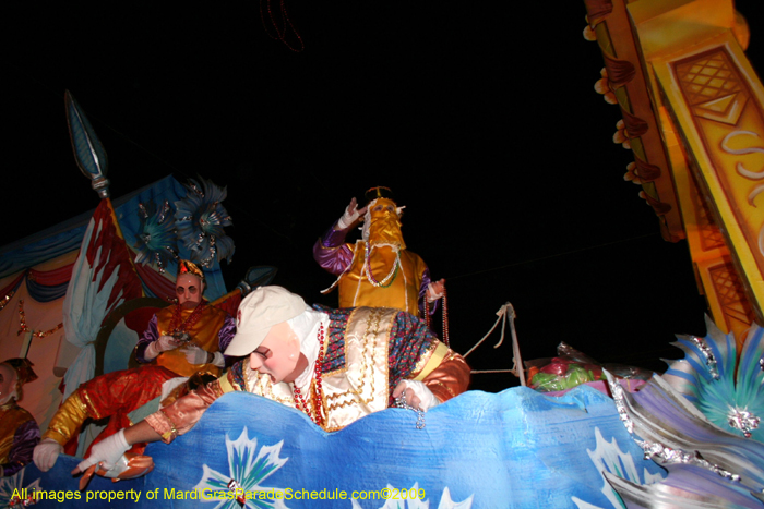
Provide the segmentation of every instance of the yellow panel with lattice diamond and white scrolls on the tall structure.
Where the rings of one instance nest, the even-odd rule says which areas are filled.
[[[699,191],[764,323],[764,88],[729,31],[652,63]]]

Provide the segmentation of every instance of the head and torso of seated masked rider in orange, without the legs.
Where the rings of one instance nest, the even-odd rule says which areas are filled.
[[[181,376],[205,372],[219,376],[225,367],[222,351],[236,332],[234,318],[202,299],[204,272],[180,260],[176,279],[178,304],[159,310],[138,341],[139,363],[154,363]]]

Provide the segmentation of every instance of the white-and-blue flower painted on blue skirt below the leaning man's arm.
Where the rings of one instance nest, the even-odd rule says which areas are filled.
[[[263,486],[262,483],[272,473],[284,466],[289,458],[279,458],[282,445],[284,440],[274,446],[263,446],[258,451],[258,439],[249,439],[247,436],[247,427],[241,432],[241,435],[236,440],[230,440],[226,435],[226,450],[228,452],[228,473],[224,474],[211,469],[206,464],[203,465],[202,480],[193,487],[202,493],[205,489],[212,492],[232,492],[231,481],[235,481],[237,486],[243,490],[249,498],[242,499],[243,507],[252,509],[273,508],[287,509],[284,504],[284,488]],[[271,494],[270,497],[258,497],[256,493],[263,492]],[[207,492],[208,493],[208,492]],[[258,498],[253,498],[258,497]],[[236,498],[210,498],[202,499],[207,502],[217,502],[215,509],[241,509],[242,506]]]

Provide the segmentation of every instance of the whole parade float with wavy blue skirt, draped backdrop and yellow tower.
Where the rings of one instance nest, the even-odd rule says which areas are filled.
[[[742,51],[744,22],[729,1],[585,3],[585,36],[606,62],[597,88],[621,108],[617,140],[635,157],[628,175],[643,187],[665,239],[688,238],[709,302],[707,335],[679,337],[684,359],[636,392],[614,378],[599,381],[601,391],[582,385],[553,397],[527,387],[468,391],[427,412],[423,427],[410,410],[389,409],[326,433],[294,409],[228,395],[174,444],[150,445],[154,471],[145,476],[95,476],[80,492],[70,474],[79,459],[61,456],[49,472],[29,464],[3,478],[0,505],[761,507],[762,150],[743,142],[762,131],[764,89]],[[206,184],[171,178],[111,203],[105,150],[75,102],[68,105],[77,160],[102,203],[39,242],[7,247],[0,284],[3,330],[23,332],[3,339],[2,357],[33,359],[39,372],[58,374],[24,400],[41,428],[60,402],[61,375],[67,395],[127,367],[142,327],[124,319],[130,303],[172,294],[164,244],[175,241],[190,255],[210,239],[170,220],[187,217],[178,214],[187,205],[219,204],[204,202],[216,192]],[[163,249],[150,245],[147,229]],[[199,250],[213,281],[215,264],[232,252],[215,234]],[[218,284],[207,296],[235,310],[242,290]],[[135,308],[163,305],[146,304]]]

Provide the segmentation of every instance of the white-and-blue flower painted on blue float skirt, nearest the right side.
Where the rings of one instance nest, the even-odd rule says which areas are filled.
[[[616,509],[625,508],[621,501],[621,497],[616,493],[616,490],[607,482],[602,472],[609,472],[613,475],[618,475],[621,478],[631,481],[634,484],[653,484],[661,481],[664,476],[660,473],[652,474],[647,469],[643,470],[642,476],[636,470],[636,464],[634,463],[634,458],[631,452],[623,452],[618,446],[616,437],[612,441],[607,441],[602,438],[602,434],[598,426],[594,428],[595,440],[597,443],[595,450],[586,449],[586,452],[592,459],[595,468],[602,477],[602,495],[610,500],[611,507]],[[584,501],[577,497],[571,497],[573,502],[578,507],[578,509],[606,509],[599,506],[594,506],[587,501]],[[608,508],[609,509],[609,508]]]

